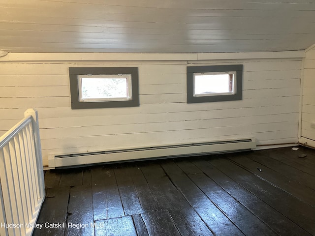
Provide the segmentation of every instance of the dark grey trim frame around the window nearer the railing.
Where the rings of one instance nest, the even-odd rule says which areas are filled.
[[[80,102],[78,75],[113,75],[131,74],[132,100],[128,101],[101,101]],[[139,106],[139,79],[138,67],[69,67],[71,109],[93,109],[113,107]]]

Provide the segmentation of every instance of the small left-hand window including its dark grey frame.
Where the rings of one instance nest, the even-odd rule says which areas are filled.
[[[72,109],[139,106],[137,67],[70,67]]]

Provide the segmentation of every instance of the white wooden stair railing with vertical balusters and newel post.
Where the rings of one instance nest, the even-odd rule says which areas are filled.
[[[31,236],[45,198],[37,111],[0,137],[0,236]]]

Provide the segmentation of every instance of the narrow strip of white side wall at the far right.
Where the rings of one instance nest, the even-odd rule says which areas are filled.
[[[307,145],[315,148],[315,47],[306,52],[304,59],[302,101],[300,142],[307,142]]]

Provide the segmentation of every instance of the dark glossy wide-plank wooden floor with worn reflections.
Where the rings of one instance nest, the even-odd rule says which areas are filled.
[[[45,185],[33,236],[315,235],[304,147],[51,170]]]

